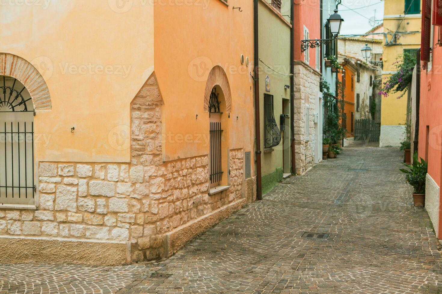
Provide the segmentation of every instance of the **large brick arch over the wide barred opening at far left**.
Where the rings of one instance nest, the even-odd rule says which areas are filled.
[[[0,75],[19,80],[28,90],[36,112],[52,108],[48,86],[43,76],[27,60],[10,53],[0,53]]]

